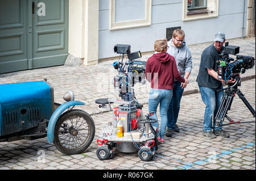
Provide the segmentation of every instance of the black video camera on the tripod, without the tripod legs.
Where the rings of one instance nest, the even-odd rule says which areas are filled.
[[[225,49],[221,51],[220,64],[218,65],[218,79],[228,81],[230,78],[237,79],[237,75],[245,73],[246,69],[251,69],[254,66],[254,57],[237,55],[237,60],[229,57],[229,54],[236,55],[239,53],[240,47],[228,45],[225,43]],[[230,63],[230,61],[234,61]],[[238,86],[240,86],[238,84]]]

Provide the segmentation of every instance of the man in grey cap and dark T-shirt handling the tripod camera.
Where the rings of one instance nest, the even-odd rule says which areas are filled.
[[[222,82],[225,81],[218,79],[217,73],[220,53],[221,50],[224,49],[224,43],[225,34],[223,32],[217,32],[214,37],[214,43],[207,47],[201,55],[199,73],[196,78],[201,98],[206,106],[204,112],[203,135],[208,138],[216,138],[216,136],[229,137],[229,134],[222,129],[222,125],[220,127],[215,127],[214,120],[218,108],[220,107],[222,96],[224,95],[224,91],[218,90],[223,89]],[[236,82],[236,79],[233,80],[232,78],[227,82],[234,83]]]

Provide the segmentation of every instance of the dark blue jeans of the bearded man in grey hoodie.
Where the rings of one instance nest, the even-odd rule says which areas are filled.
[[[167,112],[167,128],[172,130],[174,130],[175,124],[177,123],[177,117],[180,111],[180,100],[184,91],[184,89],[181,89],[180,85],[181,82],[174,82],[174,89],[172,90],[173,95]]]

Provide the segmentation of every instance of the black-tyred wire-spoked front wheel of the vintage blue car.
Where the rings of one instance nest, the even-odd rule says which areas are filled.
[[[82,110],[70,110],[59,117],[54,130],[54,144],[64,154],[80,154],[92,143],[95,125]]]

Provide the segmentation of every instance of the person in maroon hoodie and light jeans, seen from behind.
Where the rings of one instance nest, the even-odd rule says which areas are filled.
[[[174,78],[183,83],[188,83],[188,80],[181,77],[177,70],[175,58],[166,53],[168,49],[167,39],[156,40],[154,49],[156,53],[148,58],[145,72],[147,81],[151,82],[148,111],[154,112],[151,118],[158,120],[156,110],[160,103],[160,132],[158,121],[152,125],[158,129],[158,140],[164,142],[164,133],[167,127],[167,111],[172,98]]]

